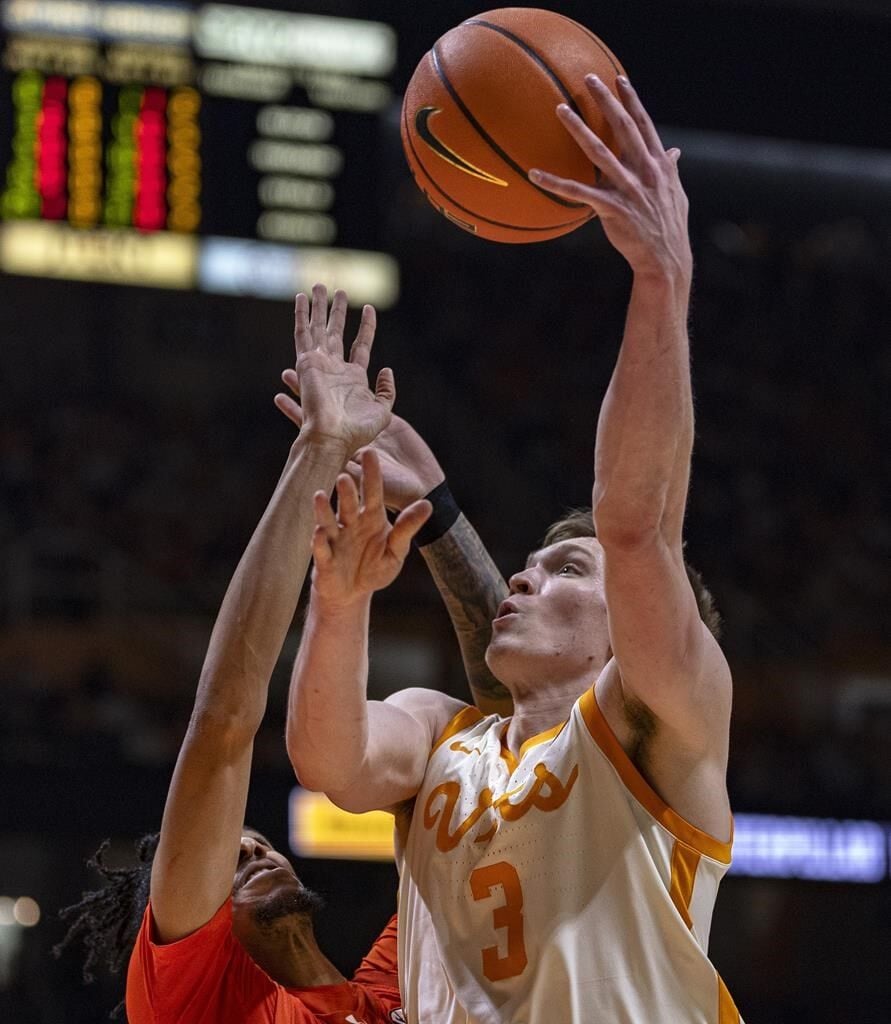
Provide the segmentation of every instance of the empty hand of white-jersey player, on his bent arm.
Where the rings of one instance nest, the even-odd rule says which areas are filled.
[[[390,523],[377,453],[363,452],[360,467],[358,489],[348,473],[337,478],[337,514],[324,490],[314,496],[312,589],[328,606],[354,604],[389,586],[431,511],[428,501],[416,501]]]

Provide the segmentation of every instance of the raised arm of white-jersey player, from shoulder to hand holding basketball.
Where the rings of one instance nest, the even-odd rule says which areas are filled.
[[[634,281],[622,348],[597,426],[594,520],[604,551],[609,638],[626,696],[645,703],[690,750],[726,750],[729,674],[699,620],[682,525],[693,439],[687,308],[692,260],[678,151],[663,147],[636,92],[588,86],[617,157],[565,106],[558,115],[599,169],[590,187],[533,178],[589,203]]]

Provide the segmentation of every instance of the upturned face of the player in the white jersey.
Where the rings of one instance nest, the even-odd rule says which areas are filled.
[[[594,538],[536,551],[510,579],[492,624],[485,660],[511,683],[578,680],[590,685],[608,657],[603,549]]]

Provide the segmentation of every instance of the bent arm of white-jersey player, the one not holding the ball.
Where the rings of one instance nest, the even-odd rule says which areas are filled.
[[[391,807],[418,792],[436,735],[463,707],[435,690],[368,700],[372,595],[389,586],[430,513],[417,501],[394,523],[377,453],[362,455],[360,493],[337,479],[337,514],[315,496],[309,608],[288,705],[288,753],[301,783],[347,810]]]

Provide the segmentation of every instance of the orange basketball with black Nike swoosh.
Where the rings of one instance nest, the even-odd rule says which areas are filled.
[[[533,184],[538,167],[595,183],[596,171],[557,119],[567,103],[611,147],[585,85],[616,92],[617,57],[584,26],[551,10],[502,7],[462,22],[426,53],[402,103],[402,145],[436,209],[494,242],[543,242],[594,216]]]

